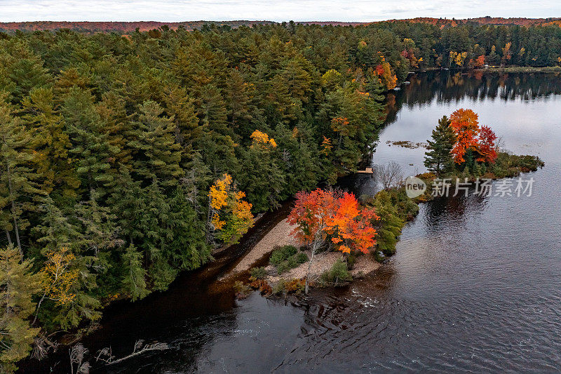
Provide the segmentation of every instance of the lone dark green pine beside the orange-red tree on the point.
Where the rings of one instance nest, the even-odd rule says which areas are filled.
[[[450,152],[456,142],[456,135],[450,128],[450,119],[447,116],[438,120],[432,139],[427,140],[428,150],[425,152],[424,165],[439,176],[440,173],[447,173],[454,167],[454,159]]]

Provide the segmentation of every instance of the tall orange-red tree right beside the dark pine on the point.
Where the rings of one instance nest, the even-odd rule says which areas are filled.
[[[457,109],[450,116],[450,127],[456,134],[457,141],[452,148],[454,162],[466,161],[464,155],[468,149],[478,147],[477,136],[479,133],[478,115],[471,109]]]

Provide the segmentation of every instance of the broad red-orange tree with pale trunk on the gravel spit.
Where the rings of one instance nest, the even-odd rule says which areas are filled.
[[[318,249],[330,243],[343,253],[368,253],[376,245],[376,229],[372,220],[379,220],[379,217],[372,209],[360,208],[353,194],[323,189],[296,194],[288,222],[296,225],[292,234],[311,248],[306,293],[311,264]]]

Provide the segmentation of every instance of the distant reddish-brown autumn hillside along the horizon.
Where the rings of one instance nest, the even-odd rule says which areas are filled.
[[[467,18],[465,20],[456,20],[454,18],[410,18],[405,20],[388,20],[377,22],[418,22],[428,23],[431,25],[447,25],[456,26],[465,23],[474,23],[478,25],[561,25],[561,18]],[[163,25],[167,25],[171,29],[184,27],[187,30],[200,29],[205,24],[228,25],[230,27],[251,26],[254,24],[272,24],[278,23],[273,21],[186,21],[186,22],[156,22],[156,21],[138,21],[138,22],[58,22],[58,21],[36,21],[36,22],[0,22],[0,32],[14,32],[15,30],[33,32],[37,30],[58,30],[71,29],[76,32],[117,32],[126,34],[134,32],[135,29],[140,31],[148,31],[157,29]],[[332,25],[332,26],[357,26],[369,25],[376,22],[339,22],[339,21],[307,21],[297,22],[302,25]]]

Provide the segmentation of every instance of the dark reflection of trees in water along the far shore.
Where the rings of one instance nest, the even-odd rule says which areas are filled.
[[[410,84],[386,96],[386,125],[396,121],[403,105],[414,107],[429,102],[530,100],[561,93],[561,74],[426,72],[409,77]]]

